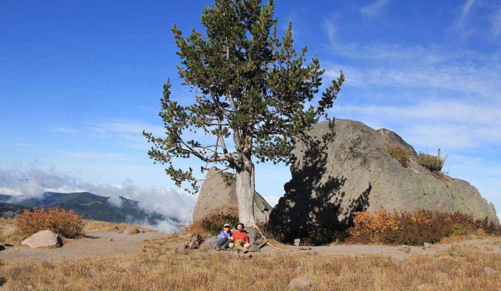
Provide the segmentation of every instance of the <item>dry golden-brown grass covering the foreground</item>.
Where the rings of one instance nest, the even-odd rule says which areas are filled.
[[[15,222],[0,220],[0,238],[15,237]],[[88,230],[116,224],[90,221]],[[9,290],[283,290],[296,277],[309,275],[314,290],[340,289],[501,289],[501,254],[492,249],[453,246],[434,256],[404,260],[381,255],[257,253],[252,259],[231,252],[187,250],[184,234],[144,241],[141,254],[72,260],[6,260],[0,252],[0,284]],[[175,241],[179,247],[169,246]],[[177,243],[178,242],[178,243]],[[235,288],[235,282],[238,287]]]

